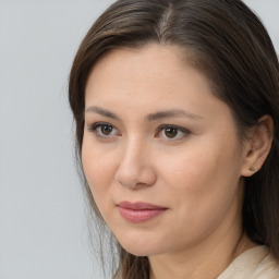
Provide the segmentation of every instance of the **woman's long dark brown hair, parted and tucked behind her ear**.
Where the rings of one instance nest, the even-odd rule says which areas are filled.
[[[85,86],[93,65],[108,50],[141,48],[148,43],[185,49],[187,62],[208,77],[216,97],[231,108],[241,140],[246,138],[246,132],[262,116],[271,116],[271,150],[262,169],[245,179],[242,215],[248,238],[269,246],[279,259],[279,64],[267,31],[241,0],[113,3],[83,39],[70,74],[69,99],[76,122],[77,155],[83,145]],[[85,186],[100,217],[87,183]],[[119,275],[148,278],[147,257],[119,247]]]

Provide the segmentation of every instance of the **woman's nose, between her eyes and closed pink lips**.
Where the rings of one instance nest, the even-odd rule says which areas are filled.
[[[156,182],[154,167],[148,147],[138,141],[130,142],[121,150],[116,180],[128,189],[150,186]]]

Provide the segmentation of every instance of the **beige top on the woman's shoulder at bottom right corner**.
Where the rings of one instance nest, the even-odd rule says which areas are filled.
[[[267,247],[256,246],[238,256],[217,279],[279,279],[279,263]]]

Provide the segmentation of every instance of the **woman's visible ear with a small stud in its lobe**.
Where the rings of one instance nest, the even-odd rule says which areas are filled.
[[[264,165],[272,143],[274,121],[270,116],[264,116],[252,130],[247,145],[245,145],[245,158],[241,174],[251,177]]]

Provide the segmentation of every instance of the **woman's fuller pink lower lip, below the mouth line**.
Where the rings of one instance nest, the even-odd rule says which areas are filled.
[[[154,217],[157,217],[158,215],[161,215],[162,213],[165,213],[166,209],[140,209],[140,210],[135,210],[135,209],[130,209],[130,208],[123,208],[123,207],[119,207],[119,213],[120,215],[130,222],[146,222],[150,219],[153,219]]]

